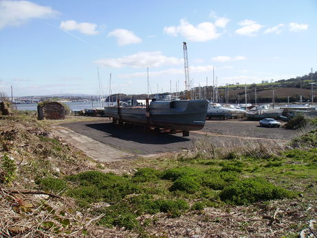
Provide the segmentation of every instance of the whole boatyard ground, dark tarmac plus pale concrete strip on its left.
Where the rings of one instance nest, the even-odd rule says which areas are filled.
[[[107,118],[55,125],[54,130],[67,142],[102,162],[190,149],[202,138],[210,138],[215,143],[221,138],[230,138],[231,143],[241,143],[241,140],[287,142],[297,135],[283,127],[259,127],[259,122],[241,120],[208,120],[204,129],[190,131],[188,137],[182,137],[182,133],[147,132],[140,126],[118,127]]]

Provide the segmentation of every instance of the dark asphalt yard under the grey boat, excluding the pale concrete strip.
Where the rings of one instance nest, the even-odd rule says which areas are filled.
[[[208,120],[201,131],[190,131],[190,136],[182,133],[154,133],[145,131],[144,127],[129,128],[112,125],[109,119],[91,122],[69,122],[61,125],[80,135],[120,149],[128,153],[156,154],[182,149],[190,149],[193,144],[208,135],[217,143],[217,138],[230,138],[230,143],[241,140],[291,140],[296,136],[292,130],[259,127],[259,122],[239,120]],[[216,140],[215,140],[216,139]]]

